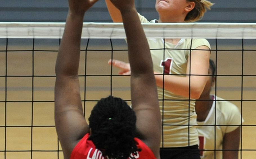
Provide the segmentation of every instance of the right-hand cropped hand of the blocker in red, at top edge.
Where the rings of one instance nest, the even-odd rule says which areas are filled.
[[[110,0],[110,1],[121,12],[135,8],[134,0]]]

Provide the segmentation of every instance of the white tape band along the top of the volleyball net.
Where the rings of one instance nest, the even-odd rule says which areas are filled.
[[[142,24],[147,38],[255,39],[256,23]],[[65,23],[0,23],[0,38],[62,37]],[[122,23],[84,23],[82,38],[123,39]]]

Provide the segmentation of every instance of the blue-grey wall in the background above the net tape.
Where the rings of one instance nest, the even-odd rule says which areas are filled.
[[[215,5],[201,22],[256,22],[255,0],[212,0]],[[148,19],[158,18],[155,0],[136,0],[137,10]],[[0,0],[1,22],[64,22],[67,0]],[[98,1],[86,22],[111,22],[104,0]]]

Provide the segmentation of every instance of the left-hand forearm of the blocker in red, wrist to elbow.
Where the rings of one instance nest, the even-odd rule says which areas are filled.
[[[57,76],[78,74],[83,17],[83,14],[68,13],[55,66]]]

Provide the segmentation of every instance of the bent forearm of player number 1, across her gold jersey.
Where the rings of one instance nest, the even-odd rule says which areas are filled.
[[[160,74],[156,73],[155,74]],[[156,85],[163,88],[163,75],[155,75]],[[203,92],[205,87],[207,76],[173,76],[165,75],[164,76],[164,89],[169,90],[170,92],[181,95],[183,97],[189,97],[191,99],[198,99]]]

